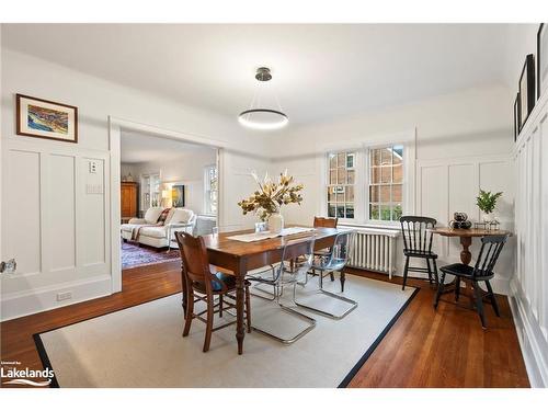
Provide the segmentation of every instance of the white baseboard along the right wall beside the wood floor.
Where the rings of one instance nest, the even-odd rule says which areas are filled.
[[[529,384],[534,388],[548,387],[548,341],[543,338],[538,324],[529,318],[524,302],[523,294],[518,286],[511,283],[512,295],[509,297],[512,317],[520,340],[525,367],[529,377]],[[545,357],[546,356],[546,357]]]

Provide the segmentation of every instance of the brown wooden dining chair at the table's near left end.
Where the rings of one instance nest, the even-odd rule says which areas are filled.
[[[204,340],[204,352],[209,350],[212,333],[236,321],[227,322],[218,327],[214,326],[215,313],[222,317],[222,312],[228,309],[236,309],[236,278],[229,273],[222,273],[214,265],[209,264],[207,249],[202,237],[193,237],[184,231],[176,231],[175,239],[181,251],[182,260],[182,282],[183,282],[183,307],[184,307],[184,330],[183,336],[189,335],[193,319],[198,319],[206,324]],[[246,320],[248,332],[251,332],[251,307],[249,297],[249,285],[244,283],[246,298]],[[218,297],[218,302],[215,302]],[[227,298],[227,299],[225,299]],[[194,313],[194,304],[203,301],[206,309]],[[204,319],[202,316],[206,315]]]

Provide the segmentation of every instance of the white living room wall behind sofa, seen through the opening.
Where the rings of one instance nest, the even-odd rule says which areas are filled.
[[[185,185],[185,207],[196,214],[203,214],[205,213],[204,168],[216,164],[216,149],[186,151],[181,152],[180,157],[170,158],[167,161],[155,160],[122,164],[122,175],[124,175],[124,171],[126,174],[130,171],[134,181],[140,182],[141,174],[160,171],[162,183],[183,183]]]

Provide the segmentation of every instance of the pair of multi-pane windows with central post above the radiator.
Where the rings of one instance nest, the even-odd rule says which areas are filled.
[[[330,152],[327,214],[353,222],[398,221],[403,209],[403,145]]]

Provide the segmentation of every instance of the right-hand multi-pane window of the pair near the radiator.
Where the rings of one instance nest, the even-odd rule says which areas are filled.
[[[369,220],[398,221],[403,189],[403,146],[369,150]]]

